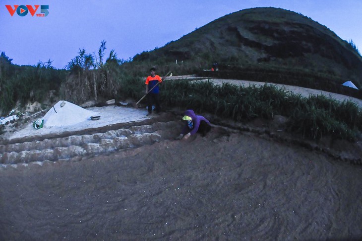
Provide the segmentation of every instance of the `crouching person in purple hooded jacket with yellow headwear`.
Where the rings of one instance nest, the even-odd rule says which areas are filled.
[[[211,130],[210,122],[201,115],[196,115],[193,110],[186,110],[183,113],[182,120],[185,121],[185,126],[182,129],[180,136],[176,139],[187,139],[190,136],[196,134],[196,132],[200,133],[201,136],[205,136]]]

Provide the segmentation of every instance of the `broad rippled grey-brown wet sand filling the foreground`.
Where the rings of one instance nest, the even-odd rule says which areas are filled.
[[[0,185],[0,240],[362,238],[361,166],[246,132],[8,166]]]

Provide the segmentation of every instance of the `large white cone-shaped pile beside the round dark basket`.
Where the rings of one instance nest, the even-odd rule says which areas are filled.
[[[46,126],[67,126],[90,120],[97,112],[83,109],[82,107],[60,100],[43,117],[44,127]]]

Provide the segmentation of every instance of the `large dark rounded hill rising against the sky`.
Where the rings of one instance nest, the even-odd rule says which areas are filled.
[[[281,8],[228,14],[133,58],[159,65],[175,60],[194,72],[211,69],[216,62],[220,72],[212,74],[223,78],[282,81],[329,91],[351,80],[362,88],[362,57],[351,44],[309,17]]]

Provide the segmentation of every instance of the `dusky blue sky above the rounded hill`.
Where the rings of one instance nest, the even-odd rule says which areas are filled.
[[[41,6],[31,14],[5,5]],[[119,59],[163,47],[205,24],[252,7],[280,7],[310,17],[362,51],[362,0],[0,0],[0,52],[17,65],[53,61],[63,69],[79,49],[97,53],[106,41]],[[20,8],[20,7],[19,7]]]

